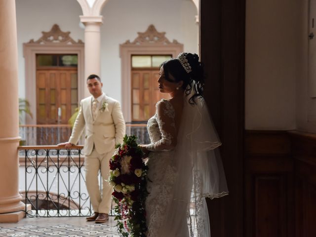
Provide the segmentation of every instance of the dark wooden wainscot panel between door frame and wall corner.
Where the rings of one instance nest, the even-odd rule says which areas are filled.
[[[245,134],[245,236],[294,237],[294,165],[286,131]]]

